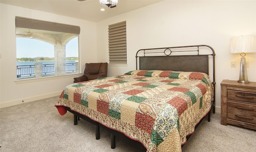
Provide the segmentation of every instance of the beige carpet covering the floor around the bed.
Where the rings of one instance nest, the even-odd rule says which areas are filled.
[[[94,125],[80,119],[73,125],[73,114],[58,114],[58,96],[0,109],[0,152],[138,152],[116,138],[110,148],[110,134],[100,129],[95,139]],[[183,152],[255,152],[256,131],[220,124],[220,114],[211,122],[202,120],[182,148]]]

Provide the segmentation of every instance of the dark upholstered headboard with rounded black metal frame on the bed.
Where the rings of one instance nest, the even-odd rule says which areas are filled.
[[[209,64],[209,56],[212,63]],[[209,65],[212,68],[209,68]],[[215,52],[208,45],[140,49],[136,69],[215,73]]]

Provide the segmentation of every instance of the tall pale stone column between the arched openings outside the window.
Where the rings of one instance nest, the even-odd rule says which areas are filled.
[[[55,75],[66,74],[66,46],[57,44],[54,46],[54,70]]]

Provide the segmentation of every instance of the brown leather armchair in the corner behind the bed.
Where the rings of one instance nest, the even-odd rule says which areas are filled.
[[[86,63],[82,76],[74,78],[74,83],[106,78],[108,72],[108,63]]]

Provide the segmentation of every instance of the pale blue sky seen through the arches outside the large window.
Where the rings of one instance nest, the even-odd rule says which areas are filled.
[[[54,46],[32,38],[16,38],[16,58],[35,57],[54,57]],[[66,45],[66,57],[78,57],[78,37]]]

